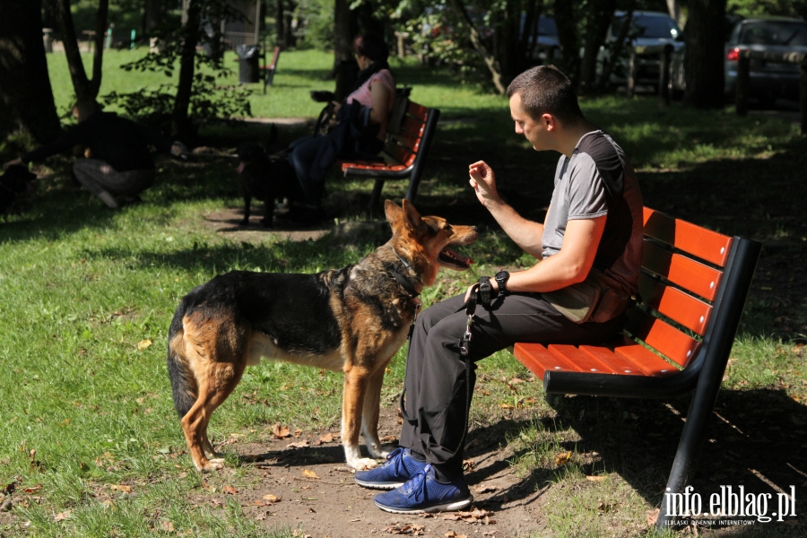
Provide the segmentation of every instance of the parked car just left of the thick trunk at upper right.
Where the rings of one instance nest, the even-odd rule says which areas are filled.
[[[611,56],[616,48],[617,40],[628,19],[628,13],[614,13],[611,26],[605,36],[605,44],[597,55],[598,74],[603,73],[605,65],[611,63]],[[610,82],[614,85],[624,85],[628,82],[628,65],[630,47],[646,47],[652,45],[672,45],[673,50],[681,48],[681,30],[678,24],[667,13],[661,12],[633,12],[630,18],[630,28],[627,38],[622,46],[619,61],[614,65]],[[636,79],[638,85],[658,87],[658,74],[661,69],[661,60],[658,54],[641,54],[635,59]]]

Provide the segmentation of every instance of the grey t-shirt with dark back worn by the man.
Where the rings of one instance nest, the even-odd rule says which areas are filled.
[[[560,156],[544,221],[542,256],[560,252],[568,221],[608,215],[594,267],[633,295],[642,263],[642,194],[617,143],[602,131],[584,134],[570,158]]]

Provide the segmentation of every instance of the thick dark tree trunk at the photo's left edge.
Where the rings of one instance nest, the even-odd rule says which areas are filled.
[[[60,133],[42,42],[41,0],[0,2],[0,136],[44,143]]]

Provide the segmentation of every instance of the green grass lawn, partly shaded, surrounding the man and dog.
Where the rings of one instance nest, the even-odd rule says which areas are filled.
[[[137,54],[142,52],[105,56],[102,95],[165,81],[161,74],[117,69]],[[72,92],[64,56],[48,60],[57,106],[65,108]],[[254,114],[315,117],[319,107],[308,90],[332,87],[330,64],[330,56],[316,51],[283,53],[275,85],[250,98]],[[399,84],[414,87],[413,100],[443,110],[418,208],[482,227],[481,239],[464,249],[478,264],[468,273],[441,273],[438,285],[423,294],[428,306],[464,290],[479,274],[529,264],[466,187],[467,164],[488,161],[516,209],[541,219],[557,156],[530,152],[512,133],[507,100],[479,84],[442,69],[393,67]],[[653,98],[620,96],[585,99],[582,106],[631,157],[647,205],[765,243],[694,485],[704,497],[720,485],[774,495],[794,485],[797,517],[699,533],[803,536],[807,143],[785,120],[739,118],[731,108],[675,105],[660,111]],[[202,131],[207,143],[222,148],[264,134],[259,126]],[[281,126],[285,142],[300,134]],[[13,158],[9,152],[0,149],[0,157]],[[41,165],[42,178],[22,214],[0,224],[0,506],[10,507],[0,509],[0,537],[353,532],[348,520],[339,519],[347,512],[329,513],[336,518],[328,522],[334,533],[314,534],[308,520],[284,519],[284,509],[297,500],[284,499],[273,517],[260,518],[225,489],[259,490],[269,481],[239,456],[269,442],[276,424],[338,432],[342,377],[267,362],[247,370],[210,428],[228,473],[203,476],[185,453],[171,403],[166,335],[179,299],[217,273],[309,273],[347,265],[385,241],[386,232],[294,241],[274,233],[217,231],[211,215],[240,204],[233,162],[223,157],[161,158],[145,203],[112,212],[71,184],[69,163],[56,157]],[[388,185],[385,195],[399,200],[404,188]],[[368,220],[369,183],[334,174],[328,190],[346,193],[329,198],[334,220]],[[511,489],[479,496],[503,521],[514,522],[504,535],[653,534],[646,516],[662,499],[686,398],[545,398],[540,382],[507,352],[480,367],[469,435],[481,447],[469,447],[466,456],[482,464],[480,450],[492,447],[499,468],[512,475]],[[403,375],[399,351],[383,394],[390,410]],[[562,463],[557,456],[565,453],[568,462]],[[328,454],[334,455],[327,460],[331,467],[343,463],[339,450]],[[469,474],[474,484],[484,479]],[[351,521],[376,510],[369,500],[347,500],[355,490],[343,491],[349,492],[343,502],[354,510]],[[530,501],[519,504],[525,499]],[[437,519],[415,522],[427,529],[438,525]],[[462,529],[486,531],[466,526],[458,533]],[[380,526],[376,534],[391,532]]]

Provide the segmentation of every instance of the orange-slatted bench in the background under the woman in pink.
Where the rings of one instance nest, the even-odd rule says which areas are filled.
[[[387,179],[409,178],[405,198],[410,202],[414,199],[439,117],[438,108],[426,108],[410,100],[401,133],[386,135],[383,161],[340,161],[345,178],[376,179],[370,195],[370,208],[377,207]]]

